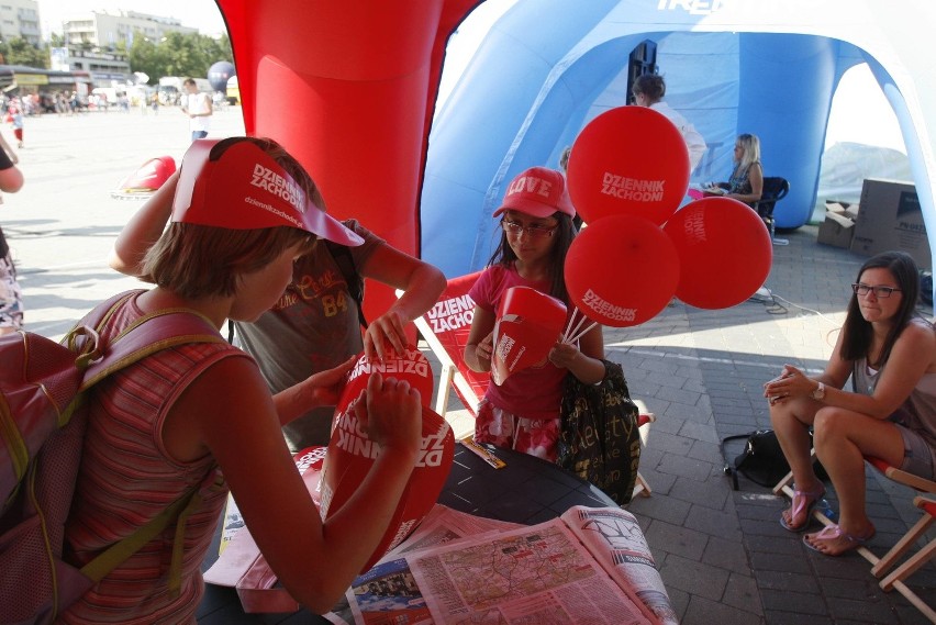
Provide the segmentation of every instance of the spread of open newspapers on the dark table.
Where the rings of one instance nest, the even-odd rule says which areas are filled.
[[[524,526],[437,509],[353,582],[346,621],[678,623],[626,511],[575,506]]]

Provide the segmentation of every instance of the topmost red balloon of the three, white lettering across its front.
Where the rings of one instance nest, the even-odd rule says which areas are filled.
[[[569,155],[569,194],[591,224],[633,214],[661,225],[689,188],[689,149],[679,129],[645,107],[606,111],[582,129]]]

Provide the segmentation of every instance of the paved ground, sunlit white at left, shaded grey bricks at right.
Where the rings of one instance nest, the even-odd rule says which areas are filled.
[[[220,111],[213,123],[212,136],[243,132],[239,109]],[[4,197],[0,225],[19,264],[30,330],[57,338],[98,301],[138,284],[107,267],[113,237],[141,205],[110,190],[153,156],[180,158],[187,129],[174,109],[26,120],[26,185]],[[721,438],[769,426],[764,381],[785,362],[824,366],[863,260],[817,245],[814,226],[779,236],[789,245],[773,247],[770,301],[721,311],[675,301],[640,326],[605,330],[633,397],[658,417],[640,459],[654,492],[628,510],[684,625],[924,623],[902,596],[878,588],[863,558],[806,549],[778,523],[785,501],[744,478],[733,491],[723,473]],[[871,471],[867,481],[878,527],[870,548],[880,556],[917,515],[911,491]],[[835,506],[834,493],[828,499]],[[936,604],[932,566],[911,587]]]

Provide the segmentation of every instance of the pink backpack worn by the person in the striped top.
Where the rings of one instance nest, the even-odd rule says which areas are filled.
[[[144,315],[103,345],[97,331],[137,292],[115,295],[97,306],[63,344],[30,332],[0,337],[0,623],[52,623],[199,504],[194,490],[186,493],[80,570],[62,559],[65,522],[81,461],[86,391],[167,347],[224,342],[207,319],[170,310]],[[178,570],[170,573],[178,577]]]

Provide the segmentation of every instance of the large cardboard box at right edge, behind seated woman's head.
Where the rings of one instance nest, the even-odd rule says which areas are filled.
[[[933,268],[920,198],[912,183],[867,179],[859,203],[851,252],[873,256],[900,249],[910,254],[921,269]]]

